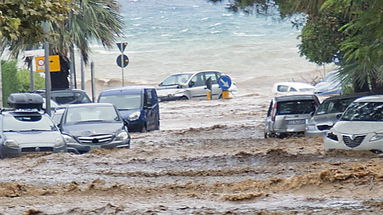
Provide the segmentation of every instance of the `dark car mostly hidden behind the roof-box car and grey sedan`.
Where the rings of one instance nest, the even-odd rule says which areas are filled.
[[[36,90],[34,93],[38,93],[45,98],[45,90]],[[83,104],[92,102],[86,92],[80,89],[51,91],[51,99],[59,106],[65,104]]]

